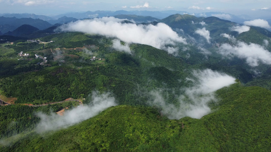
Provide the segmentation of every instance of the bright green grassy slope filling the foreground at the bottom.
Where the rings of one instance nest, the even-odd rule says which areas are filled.
[[[32,132],[5,150],[18,151],[268,151],[271,91],[240,84],[202,119],[167,120],[157,109],[119,105],[46,135]]]

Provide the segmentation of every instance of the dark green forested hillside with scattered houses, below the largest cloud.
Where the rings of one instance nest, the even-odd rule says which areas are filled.
[[[114,93],[119,104],[142,105],[146,101],[138,101],[139,96],[134,94],[136,86],[145,86],[142,90],[152,90],[164,84],[168,85],[167,88],[180,88],[185,84],[175,80],[185,79],[188,73],[183,70],[190,70],[184,61],[146,45],[132,45],[132,55],[117,52],[110,47],[111,39],[104,36],[75,32],[41,40],[53,42],[45,45],[18,42],[9,47],[18,53],[21,47],[37,48],[28,51],[33,56],[47,57],[44,65],[37,65],[42,60],[31,56],[26,57],[27,60],[17,60],[15,53],[14,58],[3,57],[5,67],[2,73],[5,77],[0,80],[0,90],[3,95],[17,97],[16,103],[42,104],[69,97],[85,98],[93,90],[98,90]],[[82,48],[69,49],[71,46]],[[62,48],[49,49],[55,47]],[[93,56],[101,60],[91,61]]]

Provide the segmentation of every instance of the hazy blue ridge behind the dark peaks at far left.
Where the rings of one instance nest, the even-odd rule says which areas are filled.
[[[50,26],[52,26],[50,23],[43,21],[41,19],[32,19],[32,18],[16,18],[16,17],[0,17],[0,27],[1,25],[4,25],[4,27],[0,28],[0,31],[2,31],[2,33],[6,33],[8,31],[12,31],[16,28],[18,28],[21,25],[24,24],[28,24],[34,27],[37,27],[39,29],[45,29],[48,28]],[[8,26],[5,27],[5,26]]]

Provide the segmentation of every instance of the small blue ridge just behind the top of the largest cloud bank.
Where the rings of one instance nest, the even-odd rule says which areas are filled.
[[[151,16],[137,16],[137,15],[115,15],[115,18],[133,20],[136,23],[149,23],[159,21],[158,18]]]

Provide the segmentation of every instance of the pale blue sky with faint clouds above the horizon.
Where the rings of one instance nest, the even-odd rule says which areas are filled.
[[[271,13],[270,0],[168,0],[168,1],[86,1],[86,0],[0,0],[0,13],[34,13],[58,15],[67,12],[116,10],[177,10],[189,13],[224,12],[235,15],[266,16]]]

